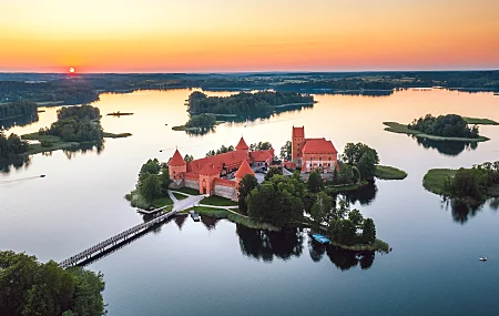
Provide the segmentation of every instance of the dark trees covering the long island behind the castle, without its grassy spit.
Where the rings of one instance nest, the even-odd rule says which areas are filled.
[[[189,96],[189,112],[193,114],[236,114],[240,116],[269,116],[274,106],[285,104],[313,104],[312,95],[296,92],[256,93],[241,92],[231,96],[207,96],[202,92],[193,92]]]

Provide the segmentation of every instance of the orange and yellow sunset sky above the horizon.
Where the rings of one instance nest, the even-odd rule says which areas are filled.
[[[499,69],[498,0],[0,0],[0,71]]]

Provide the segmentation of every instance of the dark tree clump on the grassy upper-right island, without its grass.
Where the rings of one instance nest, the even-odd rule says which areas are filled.
[[[477,125],[469,128],[465,119],[457,114],[439,115],[437,118],[427,114],[424,118],[414,120],[407,128],[428,135],[442,137],[478,139],[480,136]]]

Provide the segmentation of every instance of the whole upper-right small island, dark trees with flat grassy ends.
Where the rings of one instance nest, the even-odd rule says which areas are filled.
[[[457,114],[437,118],[427,114],[407,125],[396,122],[383,122],[383,124],[387,126],[385,131],[414,135],[419,139],[477,143],[489,140],[479,134],[478,124],[498,125],[499,123],[489,119],[464,118]]]

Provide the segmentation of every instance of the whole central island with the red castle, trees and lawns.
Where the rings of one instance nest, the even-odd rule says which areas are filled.
[[[297,157],[293,161],[278,160],[268,142],[248,146],[243,137],[236,146],[211,150],[201,159],[175,150],[167,162],[145,162],[125,198],[147,215],[194,211],[253,228],[308,227],[345,249],[389,252],[388,244],[376,238],[374,221],[352,210],[338,192],[373,183],[377,173],[386,179],[406,174],[379,166],[376,150],[363,143],[348,143],[340,161],[332,141],[305,139],[304,128],[293,128],[291,143],[291,156]],[[309,156],[317,152],[318,157]]]

